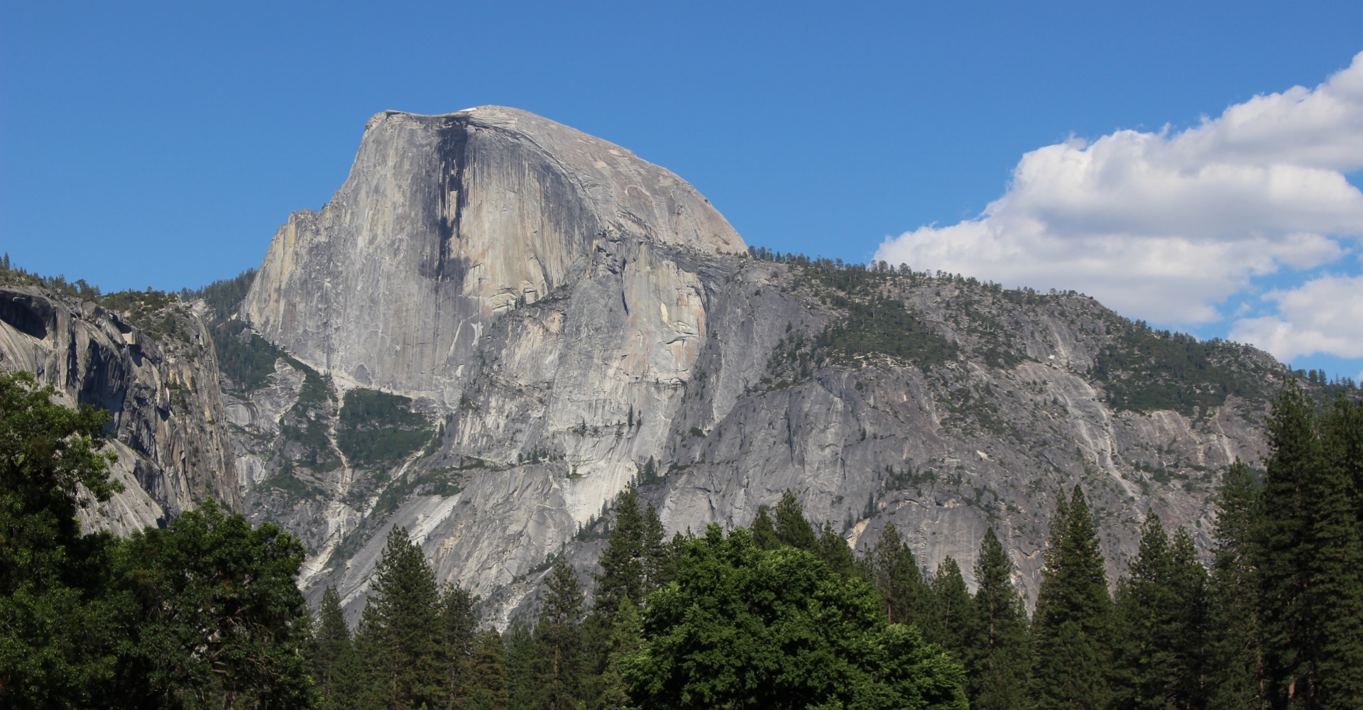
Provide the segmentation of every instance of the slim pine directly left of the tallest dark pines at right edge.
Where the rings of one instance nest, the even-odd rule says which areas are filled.
[[[1208,590],[1208,705],[1257,710],[1264,707],[1259,583],[1254,566],[1259,487],[1239,459],[1225,472],[1216,504],[1220,508],[1212,531],[1216,559]]]

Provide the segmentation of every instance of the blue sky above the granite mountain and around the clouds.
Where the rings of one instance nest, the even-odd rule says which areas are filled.
[[[1363,318],[1349,311],[1363,304],[1360,236],[1348,204],[1322,207],[1334,209],[1333,221],[1292,217],[1314,232],[1284,217],[1277,232],[1249,243],[1232,228],[1199,232],[1208,214],[1224,210],[1235,222],[1242,207],[1194,206],[1186,225],[1134,237],[1176,232],[1231,251],[1169,251],[1180,268],[1133,270],[1137,281],[1154,274],[1146,282],[1088,286],[1089,262],[1014,263],[1043,259],[1047,244],[1067,248],[1065,238],[1093,247],[1093,234],[1107,234],[1093,248],[1108,255],[1146,244],[1111,241],[1116,228],[1104,219],[1120,226],[1130,215],[1059,214],[1052,196],[1022,189],[1033,183],[1014,170],[1048,157],[1092,162],[1108,149],[1116,162],[1105,165],[1139,168],[1120,162],[1146,155],[1133,153],[1133,140],[1178,162],[1186,155],[1169,146],[1204,117],[1214,127],[1231,106],[1293,86],[1315,91],[1348,68],[1363,50],[1356,1],[7,0],[3,16],[0,249],[27,268],[106,290],[196,286],[258,264],[289,211],[320,207],[341,185],[365,119],[379,110],[504,104],[672,169],[750,244],[849,260],[901,248],[919,268],[1040,289],[1078,283],[1133,318],[1257,338],[1298,367],[1363,373],[1363,327],[1351,330]],[[1340,135],[1347,154],[1349,134]],[[1253,162],[1202,154],[1214,159],[1179,169]],[[1363,164],[1306,162],[1356,192]],[[1149,199],[1137,209],[1175,222],[1184,214]],[[1032,241],[1011,232],[1009,218],[1043,213],[1050,232]],[[966,232],[980,225],[1011,240],[1010,249],[1041,252],[1000,268],[998,255],[972,260],[923,247],[969,244]],[[1197,270],[1235,249],[1264,258]]]

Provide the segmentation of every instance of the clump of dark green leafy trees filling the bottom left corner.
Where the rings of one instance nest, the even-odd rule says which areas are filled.
[[[80,534],[120,487],[108,413],[0,373],[0,705],[308,707],[303,548],[211,501],[128,540]]]

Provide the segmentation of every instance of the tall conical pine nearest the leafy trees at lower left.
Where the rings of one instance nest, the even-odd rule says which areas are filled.
[[[435,572],[408,530],[394,526],[356,635],[369,705],[388,710],[443,705],[439,608]]]

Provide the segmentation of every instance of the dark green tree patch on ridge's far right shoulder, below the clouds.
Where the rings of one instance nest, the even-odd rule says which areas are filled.
[[[1094,358],[1093,377],[1118,409],[1193,416],[1195,409],[1221,406],[1228,395],[1265,395],[1268,373],[1236,362],[1239,345],[1156,331],[1144,322],[1114,322],[1114,327],[1118,334]]]

